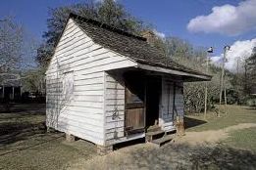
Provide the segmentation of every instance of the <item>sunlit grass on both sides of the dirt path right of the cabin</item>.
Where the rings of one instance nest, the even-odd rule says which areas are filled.
[[[203,115],[187,116],[188,125],[190,126],[186,131],[201,132],[208,130],[219,130],[227,128],[240,123],[256,123],[256,109],[248,106],[228,106],[228,113],[222,113],[221,117],[216,116],[216,112],[208,112],[207,120],[205,121]],[[198,122],[197,126],[193,126]],[[237,148],[247,149],[256,152],[256,128],[247,128],[241,130],[234,130],[229,133],[227,140],[221,141],[223,144]]]

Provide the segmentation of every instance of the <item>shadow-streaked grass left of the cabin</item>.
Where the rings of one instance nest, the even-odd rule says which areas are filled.
[[[67,143],[62,133],[46,133],[44,121],[44,105],[0,112],[0,169],[65,169],[70,161],[95,154],[92,144]]]

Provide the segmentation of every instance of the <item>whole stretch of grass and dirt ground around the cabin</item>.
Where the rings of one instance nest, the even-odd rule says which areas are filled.
[[[186,135],[160,149],[137,144],[99,156],[95,146],[46,133],[43,105],[0,111],[0,169],[255,169],[256,109],[229,106],[228,114],[188,116]]]

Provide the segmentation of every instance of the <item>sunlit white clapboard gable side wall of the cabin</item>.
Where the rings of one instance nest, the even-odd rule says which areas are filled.
[[[113,107],[105,107],[104,71],[132,65],[135,63],[127,58],[95,44],[74,21],[68,21],[46,71],[47,126],[104,145],[104,110]],[[70,72],[73,88],[67,95],[64,82]]]

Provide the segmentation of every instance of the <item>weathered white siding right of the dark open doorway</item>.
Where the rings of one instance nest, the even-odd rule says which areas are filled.
[[[163,130],[174,130],[177,115],[183,116],[183,83],[179,78],[163,76],[159,124]]]

